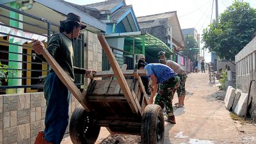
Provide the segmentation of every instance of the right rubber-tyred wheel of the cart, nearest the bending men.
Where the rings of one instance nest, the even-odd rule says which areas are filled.
[[[164,143],[164,115],[160,106],[149,104],[146,106],[141,122],[141,143]]]

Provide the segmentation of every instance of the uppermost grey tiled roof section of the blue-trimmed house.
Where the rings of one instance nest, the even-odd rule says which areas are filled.
[[[84,6],[88,6],[90,8],[96,8],[99,11],[110,11],[115,8],[116,5],[122,3],[124,0],[110,0],[110,1],[102,1],[99,3],[86,4]]]

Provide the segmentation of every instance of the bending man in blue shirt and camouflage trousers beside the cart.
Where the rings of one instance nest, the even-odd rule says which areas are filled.
[[[147,70],[147,75],[152,80],[150,84],[150,104],[154,101],[154,96],[157,92],[157,84],[159,84],[159,92],[157,93],[155,104],[161,106],[162,109],[164,105],[166,105],[168,107],[168,111],[166,111],[168,119],[166,119],[166,121],[176,124],[175,116],[173,115],[172,100],[174,93],[179,87],[179,77],[172,68],[160,63],[150,63],[145,66],[145,70]]]

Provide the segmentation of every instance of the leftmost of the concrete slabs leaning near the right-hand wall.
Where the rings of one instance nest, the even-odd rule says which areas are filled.
[[[232,86],[228,86],[228,90],[224,99],[226,109],[230,110],[232,108],[235,97],[236,90]]]

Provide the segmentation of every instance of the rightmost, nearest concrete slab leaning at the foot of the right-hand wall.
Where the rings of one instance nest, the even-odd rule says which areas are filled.
[[[234,113],[238,116],[244,116],[246,113],[246,104],[248,99],[248,93],[242,93],[240,96],[240,99],[237,102],[236,108],[234,110]],[[249,104],[252,101],[251,97],[249,99]]]

